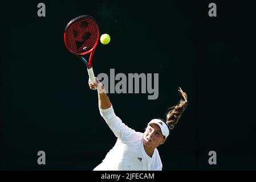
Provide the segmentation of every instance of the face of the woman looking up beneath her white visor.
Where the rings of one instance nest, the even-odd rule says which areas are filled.
[[[165,137],[162,135],[159,125],[148,125],[143,135],[143,144],[147,147],[156,148],[165,142]]]

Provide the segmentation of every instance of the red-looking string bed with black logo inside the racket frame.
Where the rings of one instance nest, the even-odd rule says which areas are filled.
[[[71,51],[82,54],[94,47],[99,37],[99,30],[94,19],[79,19],[68,26],[66,35]]]

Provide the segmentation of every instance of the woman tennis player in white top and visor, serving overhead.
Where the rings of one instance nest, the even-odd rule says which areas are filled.
[[[126,126],[116,116],[104,86],[95,77],[96,83],[89,81],[92,90],[97,88],[100,115],[117,137],[116,144],[94,171],[161,171],[162,162],[157,147],[164,144],[188,105],[186,93],[180,88],[184,100],[172,107],[166,115],[166,122],[152,119],[144,133]]]

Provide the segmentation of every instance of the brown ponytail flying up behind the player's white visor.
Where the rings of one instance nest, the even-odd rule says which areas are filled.
[[[180,88],[180,87],[179,87]],[[186,96],[186,93],[183,92],[183,90],[180,88],[180,91],[182,97],[184,98],[184,100],[180,100],[180,102],[173,107],[170,107],[170,110],[167,114],[166,114],[166,124],[169,126],[169,129],[173,129],[174,126],[178,123],[178,120],[181,117],[181,114],[185,111],[186,106],[188,105],[188,97]]]

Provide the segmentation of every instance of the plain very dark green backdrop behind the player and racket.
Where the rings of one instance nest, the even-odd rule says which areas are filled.
[[[115,113],[136,131],[189,105],[166,143],[163,170],[255,170],[255,3],[251,1],[3,1],[1,5],[1,170],[88,170],[116,138],[100,117],[85,65],[67,51],[66,24],[94,16],[100,34],[95,75],[159,73],[159,98],[109,94]],[[208,5],[217,5],[217,17]],[[46,152],[46,165],[37,152]],[[217,152],[209,165],[208,152]]]

